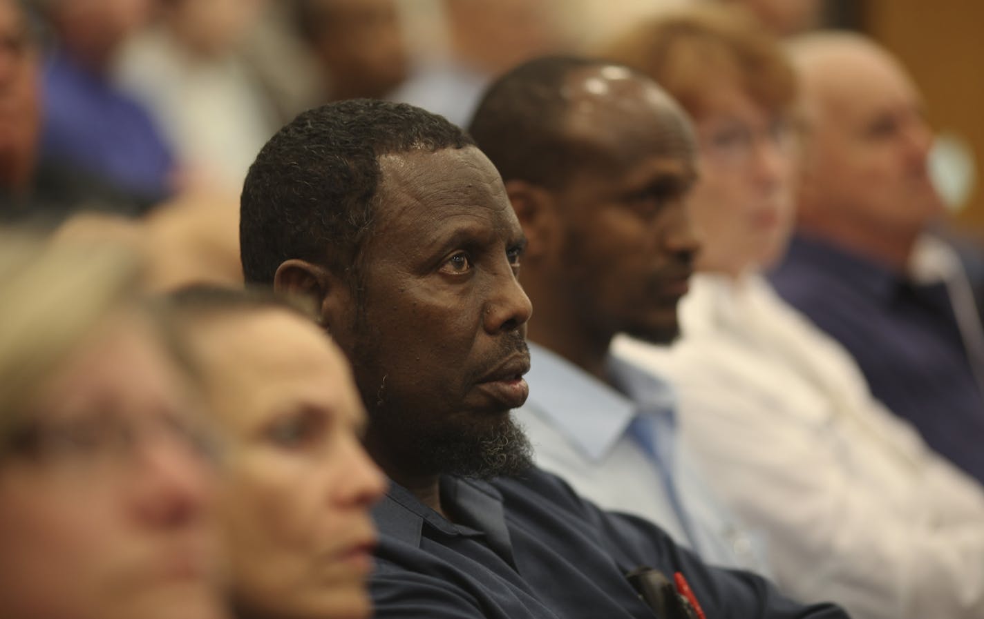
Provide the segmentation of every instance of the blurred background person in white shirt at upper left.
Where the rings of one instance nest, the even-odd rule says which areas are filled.
[[[277,113],[244,54],[266,0],[159,0],[122,47],[115,78],[174,146],[183,185],[238,190]]]

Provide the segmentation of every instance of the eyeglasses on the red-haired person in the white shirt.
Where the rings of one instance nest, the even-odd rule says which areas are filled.
[[[720,123],[701,135],[701,151],[715,163],[729,167],[748,165],[762,145],[774,148],[780,156],[795,154],[799,131],[790,119],[780,117],[769,124],[751,127],[738,121]]]

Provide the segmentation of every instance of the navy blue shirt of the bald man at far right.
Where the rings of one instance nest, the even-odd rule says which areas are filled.
[[[926,442],[984,481],[984,396],[942,283],[796,237],[770,275],[778,293],[854,356],[872,393]]]

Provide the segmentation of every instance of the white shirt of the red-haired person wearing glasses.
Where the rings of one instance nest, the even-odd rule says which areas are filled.
[[[857,619],[984,617],[984,488],[761,277],[696,276],[680,312],[672,348],[620,336],[615,355],[674,382],[682,433],[769,535],[779,586]]]

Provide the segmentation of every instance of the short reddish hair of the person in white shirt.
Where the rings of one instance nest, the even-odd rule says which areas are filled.
[[[792,107],[796,98],[796,77],[778,41],[737,7],[665,13],[610,40],[598,55],[639,69],[695,118],[721,84],[775,111]]]

